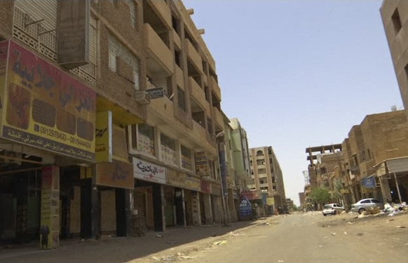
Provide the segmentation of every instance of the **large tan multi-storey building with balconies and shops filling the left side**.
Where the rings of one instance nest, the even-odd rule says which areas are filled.
[[[222,221],[227,118],[191,13],[179,0],[0,1],[1,241]]]

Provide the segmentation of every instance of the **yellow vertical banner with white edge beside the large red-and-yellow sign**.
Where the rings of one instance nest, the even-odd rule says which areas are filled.
[[[95,124],[95,161],[112,162],[112,112],[97,112]]]

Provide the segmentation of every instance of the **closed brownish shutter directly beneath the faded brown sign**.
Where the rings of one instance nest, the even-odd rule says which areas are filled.
[[[102,233],[116,231],[115,190],[101,191],[101,230]]]

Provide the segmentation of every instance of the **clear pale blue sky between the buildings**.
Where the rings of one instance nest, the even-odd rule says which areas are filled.
[[[183,2],[205,29],[223,111],[250,147],[273,147],[297,205],[306,147],[341,143],[367,114],[402,109],[382,0]]]

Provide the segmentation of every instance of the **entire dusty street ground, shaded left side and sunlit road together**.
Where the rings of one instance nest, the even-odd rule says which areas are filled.
[[[57,250],[1,250],[0,262],[407,262],[408,214],[293,214],[163,236],[70,241]]]

